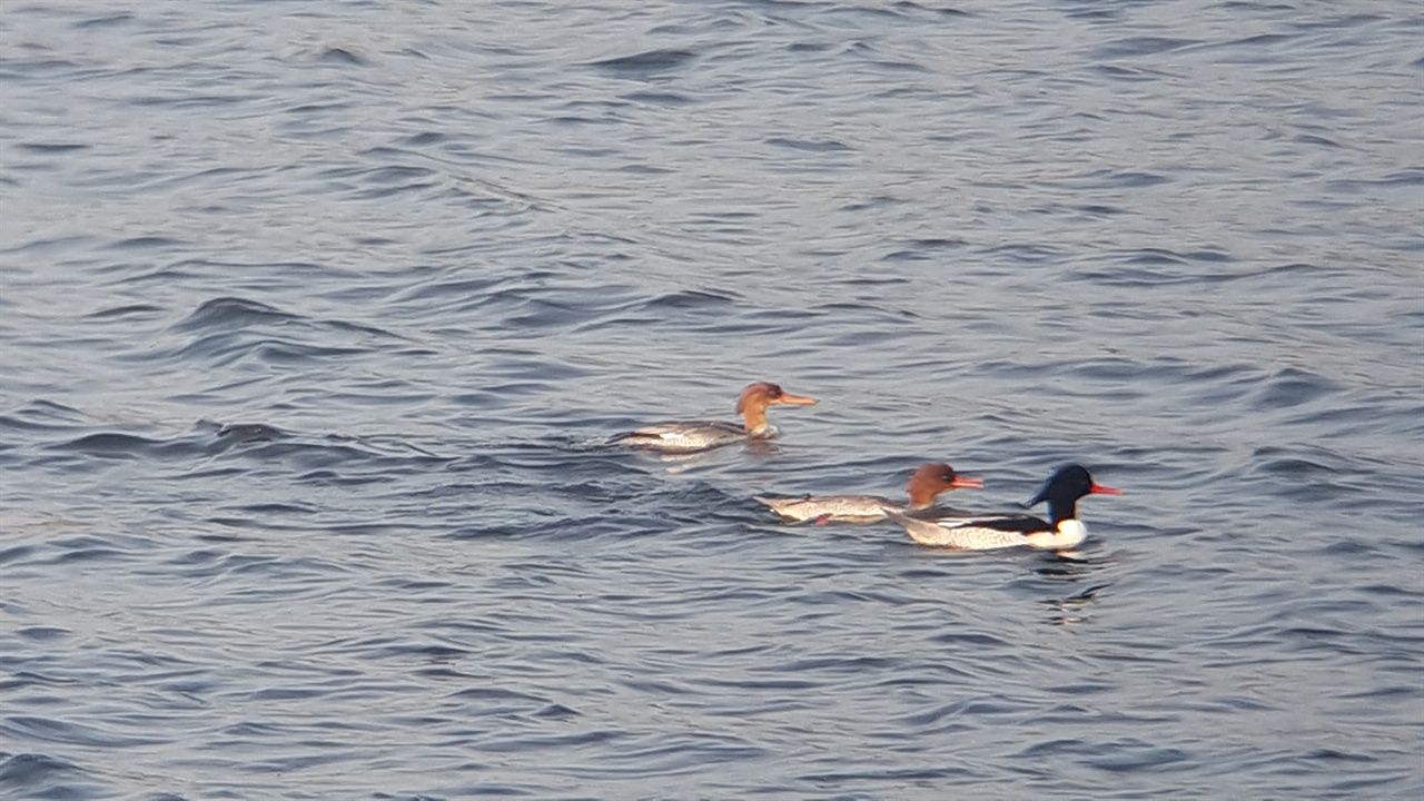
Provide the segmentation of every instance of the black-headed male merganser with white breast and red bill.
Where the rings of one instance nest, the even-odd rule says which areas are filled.
[[[1024,505],[1034,506],[1047,500],[1051,523],[1021,513],[921,520],[887,509],[886,516],[904,526],[910,539],[923,544],[954,550],[1031,546],[1067,552],[1088,536],[1088,529],[1078,520],[1078,499],[1085,495],[1122,495],[1122,490],[1096,485],[1088,470],[1078,465],[1068,465],[1049,476],[1038,495]]]

